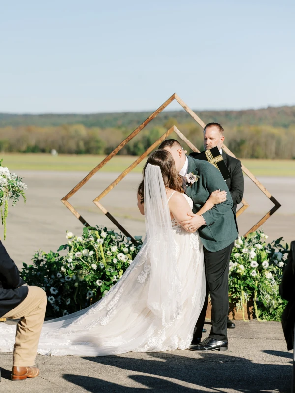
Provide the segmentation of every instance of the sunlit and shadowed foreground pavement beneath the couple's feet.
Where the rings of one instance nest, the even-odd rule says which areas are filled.
[[[39,355],[40,377],[18,383],[9,380],[12,355],[0,353],[0,392],[289,392],[291,363],[280,323],[237,321],[227,352]]]

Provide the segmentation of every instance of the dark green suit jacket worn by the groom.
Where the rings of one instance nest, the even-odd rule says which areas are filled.
[[[199,228],[203,245],[209,251],[219,251],[230,245],[238,236],[236,215],[232,209],[233,200],[222,174],[207,161],[188,158],[188,173],[200,176],[192,187],[187,186],[185,193],[193,200],[193,212],[197,213],[213,191],[227,191],[227,199],[214,205],[202,214],[207,225]]]

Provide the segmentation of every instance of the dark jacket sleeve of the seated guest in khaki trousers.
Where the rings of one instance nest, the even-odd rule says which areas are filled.
[[[3,243],[0,241],[0,274],[5,279],[3,284],[12,289],[18,288],[25,284],[25,281],[21,279],[20,272],[7,253]],[[3,286],[4,286],[3,285]]]

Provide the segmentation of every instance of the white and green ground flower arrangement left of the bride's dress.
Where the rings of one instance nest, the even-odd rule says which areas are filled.
[[[82,236],[67,232],[67,244],[55,253],[39,251],[33,264],[23,263],[22,278],[47,294],[47,317],[59,317],[101,299],[120,279],[142,247],[107,228],[83,228]],[[59,252],[63,252],[61,255]]]

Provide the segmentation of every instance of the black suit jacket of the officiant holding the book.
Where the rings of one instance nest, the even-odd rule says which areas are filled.
[[[230,190],[233,199],[233,210],[236,213],[236,206],[241,203],[244,195],[244,176],[240,160],[229,156],[222,150],[222,158],[229,169],[231,177],[226,180],[226,185]]]

